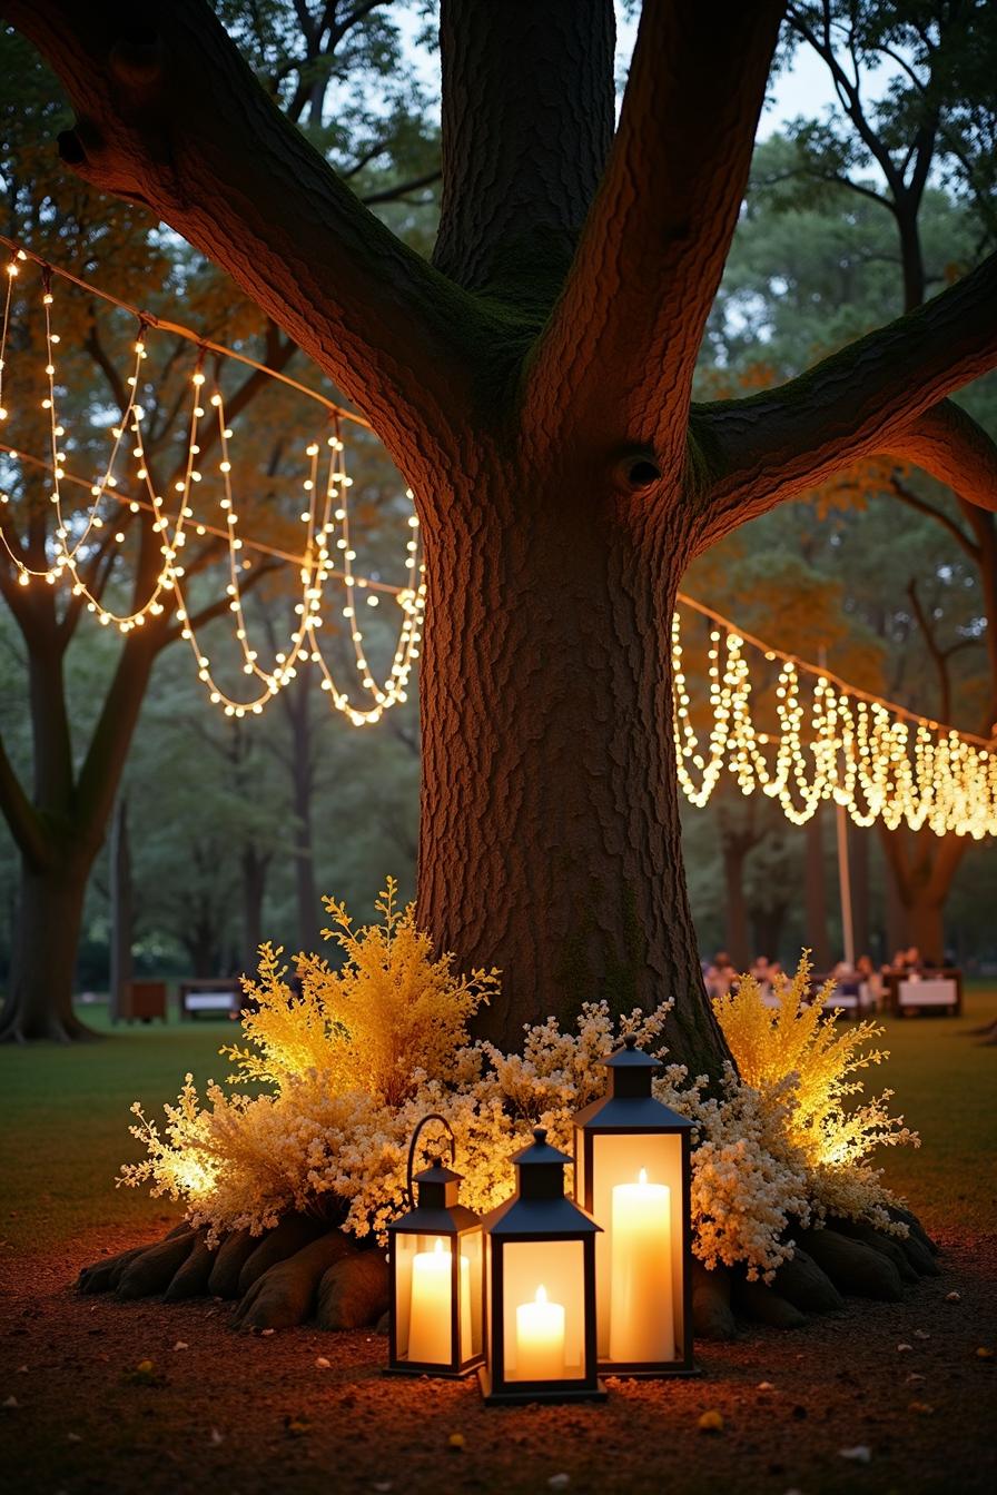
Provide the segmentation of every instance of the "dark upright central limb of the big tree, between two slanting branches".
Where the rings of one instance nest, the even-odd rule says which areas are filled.
[[[546,317],[613,139],[611,0],[442,0],[433,263]]]

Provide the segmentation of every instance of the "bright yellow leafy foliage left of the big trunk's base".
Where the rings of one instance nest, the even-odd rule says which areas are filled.
[[[416,928],[414,906],[399,912],[398,884],[387,879],[375,907],[383,924],[359,930],[336,898],[324,906],[333,927],[323,930],[345,952],[341,970],[317,955],[299,955],[300,996],[284,981],[281,949],[260,946],[260,978],[245,981],[257,1011],[242,1030],[250,1048],[223,1049],[241,1081],[269,1081],[278,1090],[302,1075],[323,1076],[330,1094],[362,1091],[396,1106],[419,1075],[447,1081],[454,1055],[468,1042],[468,1020],[498,985],[498,972],[453,972],[453,955],[433,958],[432,940]]]

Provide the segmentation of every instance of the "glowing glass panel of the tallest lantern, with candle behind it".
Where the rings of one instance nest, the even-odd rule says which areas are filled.
[[[592,1214],[601,1360],[679,1359],[685,1344],[682,1136],[595,1133]],[[583,1196],[584,1197],[584,1196]]]

